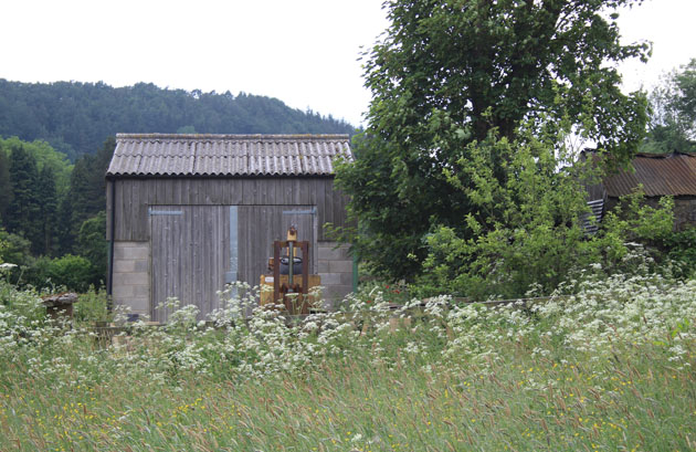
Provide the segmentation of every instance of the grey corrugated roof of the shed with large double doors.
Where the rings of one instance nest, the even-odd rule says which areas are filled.
[[[348,135],[117,134],[107,176],[330,176]]]

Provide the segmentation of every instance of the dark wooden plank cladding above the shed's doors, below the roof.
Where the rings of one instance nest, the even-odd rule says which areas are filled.
[[[107,183],[107,213],[110,213]],[[323,225],[346,223],[347,198],[333,178],[151,178],[116,179],[116,241],[149,241],[149,206],[316,206]],[[110,238],[107,214],[107,238]]]

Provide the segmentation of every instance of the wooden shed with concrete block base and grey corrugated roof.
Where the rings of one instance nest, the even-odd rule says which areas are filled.
[[[168,297],[201,318],[233,281],[257,285],[273,242],[295,224],[325,297],[352,290],[352,261],[324,225],[346,222],[334,162],[347,135],[118,134],[106,174],[114,305],[164,322]]]

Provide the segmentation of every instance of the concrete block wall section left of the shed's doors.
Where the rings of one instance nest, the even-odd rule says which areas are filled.
[[[150,244],[114,243],[114,306],[130,306],[130,312],[150,315]]]

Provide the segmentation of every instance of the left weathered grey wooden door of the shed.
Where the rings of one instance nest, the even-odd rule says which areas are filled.
[[[200,318],[219,307],[218,291],[232,277],[228,206],[150,207],[152,319],[166,322],[170,309],[156,306],[169,297],[194,304]]]

